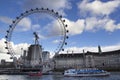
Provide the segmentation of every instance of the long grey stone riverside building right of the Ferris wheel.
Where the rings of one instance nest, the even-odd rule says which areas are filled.
[[[97,67],[105,70],[120,70],[120,50],[58,54],[54,56],[53,61],[55,69]]]

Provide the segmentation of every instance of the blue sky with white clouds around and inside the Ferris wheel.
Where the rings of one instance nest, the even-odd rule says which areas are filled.
[[[97,52],[120,49],[120,0],[0,0],[0,59],[9,60],[5,35],[9,25],[26,10],[49,8],[58,12],[68,25],[69,39],[61,53]],[[45,13],[24,17],[12,32],[11,43],[16,54],[34,43],[33,32],[39,35],[44,50],[54,52],[61,42],[62,28],[57,20]],[[53,54],[51,54],[53,55]]]

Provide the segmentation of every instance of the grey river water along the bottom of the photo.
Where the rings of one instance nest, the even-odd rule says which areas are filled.
[[[104,77],[64,77],[63,75],[43,75],[30,77],[28,75],[0,75],[0,80],[120,80],[120,72],[111,72]]]

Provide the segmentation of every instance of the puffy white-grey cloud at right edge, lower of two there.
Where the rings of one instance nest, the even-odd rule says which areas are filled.
[[[110,18],[99,19],[97,17],[88,17],[85,19],[85,30],[86,31],[97,31],[99,29],[104,29],[109,32],[120,29],[120,23],[116,24],[115,20]]]

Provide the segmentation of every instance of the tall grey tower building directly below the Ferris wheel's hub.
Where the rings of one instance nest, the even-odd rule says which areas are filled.
[[[34,67],[42,63],[42,47],[41,45],[31,45],[28,48],[27,65]]]

